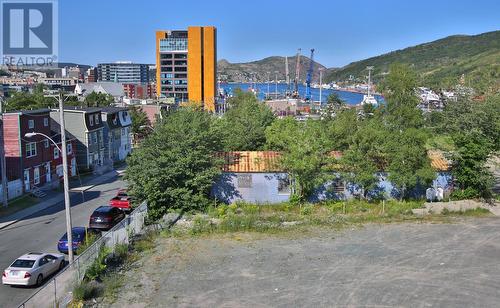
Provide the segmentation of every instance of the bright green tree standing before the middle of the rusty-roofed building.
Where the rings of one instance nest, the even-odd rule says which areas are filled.
[[[281,152],[280,165],[290,174],[299,200],[305,201],[329,178],[326,168],[331,158],[319,121],[279,119],[266,129],[266,137],[268,148]]]

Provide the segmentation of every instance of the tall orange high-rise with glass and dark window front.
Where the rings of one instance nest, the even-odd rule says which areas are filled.
[[[215,111],[217,29],[156,31],[156,92],[177,102],[202,103]]]

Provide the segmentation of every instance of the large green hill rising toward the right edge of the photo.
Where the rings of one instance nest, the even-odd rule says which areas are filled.
[[[466,85],[480,92],[500,89],[500,31],[479,35],[454,35],[430,43],[393,51],[377,57],[350,63],[329,71],[327,81],[364,79],[366,67],[374,66],[374,80],[380,81],[390,64],[411,65],[421,77],[422,85],[448,87],[462,75]]]

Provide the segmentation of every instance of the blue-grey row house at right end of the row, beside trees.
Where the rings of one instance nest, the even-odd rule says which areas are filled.
[[[128,108],[105,107],[101,117],[104,124],[104,157],[112,162],[124,160],[132,150],[132,120]]]

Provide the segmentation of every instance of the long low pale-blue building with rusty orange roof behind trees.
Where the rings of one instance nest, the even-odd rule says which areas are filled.
[[[342,157],[342,153],[338,151],[332,151],[330,155],[335,159]],[[432,187],[450,192],[453,188],[450,162],[438,151],[429,151],[428,156],[436,171]],[[211,191],[217,200],[225,203],[239,200],[250,203],[280,203],[289,200],[292,193],[291,179],[279,166],[279,152],[220,152],[216,157],[223,161],[222,174]],[[332,168],[334,179],[318,187],[309,201],[343,200],[359,196],[359,187],[344,181],[333,169],[335,167]],[[383,194],[386,198],[398,196],[399,192],[388,180],[386,173],[378,172],[375,176],[378,178],[378,185],[372,192],[373,195]],[[417,189],[416,196],[425,196],[426,188]]]

